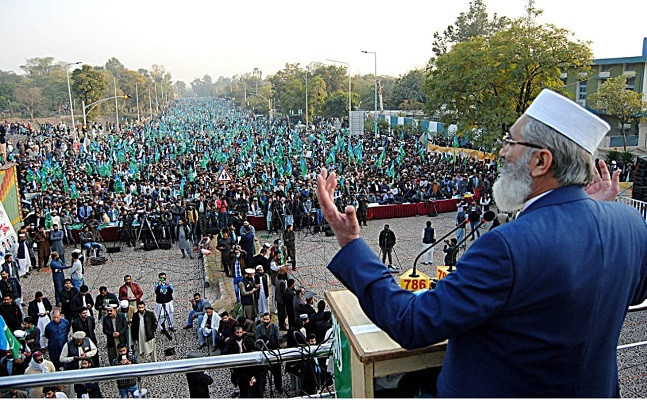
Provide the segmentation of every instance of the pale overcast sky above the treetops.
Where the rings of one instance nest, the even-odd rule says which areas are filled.
[[[528,0],[485,0],[490,15],[525,14]],[[538,22],[591,41],[595,58],[638,56],[647,36],[646,0],[535,0]],[[187,83],[209,74],[286,62],[345,61],[351,73],[399,76],[433,55],[433,33],[469,8],[469,0],[0,0],[0,70],[20,72],[26,58],[127,68],[161,64]]]

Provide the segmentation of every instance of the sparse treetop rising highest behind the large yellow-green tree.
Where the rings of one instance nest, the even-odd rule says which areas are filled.
[[[505,29],[510,22],[507,17],[498,17],[496,14],[489,19],[483,0],[472,0],[469,11],[460,13],[454,25],[449,25],[442,33],[434,33],[432,51],[436,56],[445,54],[457,43],[474,37],[490,36]]]

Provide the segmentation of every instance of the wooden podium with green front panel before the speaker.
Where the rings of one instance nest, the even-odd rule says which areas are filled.
[[[338,398],[375,397],[376,378],[441,366],[447,342],[405,350],[368,319],[348,290],[325,293],[333,314]]]

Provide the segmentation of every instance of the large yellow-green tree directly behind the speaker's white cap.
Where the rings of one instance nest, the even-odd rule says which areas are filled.
[[[561,68],[586,70],[588,43],[554,25],[514,21],[489,37],[477,36],[432,58],[427,67],[426,110],[456,123],[477,144],[490,146],[543,88],[563,91]]]

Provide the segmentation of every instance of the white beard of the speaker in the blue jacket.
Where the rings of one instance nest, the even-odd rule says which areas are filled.
[[[531,152],[524,152],[515,163],[506,163],[501,168],[501,175],[492,186],[494,202],[501,211],[514,212],[520,209],[532,193],[532,177],[528,166],[531,157]]]

